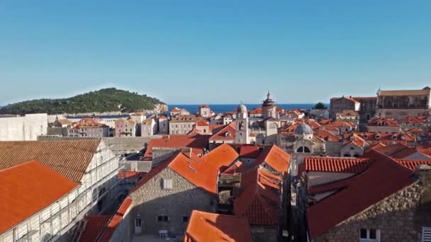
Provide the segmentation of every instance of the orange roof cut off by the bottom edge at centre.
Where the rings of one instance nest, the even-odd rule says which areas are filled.
[[[252,242],[247,219],[233,215],[191,212],[184,242]]]

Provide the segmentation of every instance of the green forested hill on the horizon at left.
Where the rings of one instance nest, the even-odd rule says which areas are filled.
[[[0,108],[0,114],[25,113],[104,113],[134,112],[152,110],[156,104],[164,104],[157,98],[123,91],[116,88],[105,88],[99,91],[79,94],[72,98],[37,99],[13,103]]]

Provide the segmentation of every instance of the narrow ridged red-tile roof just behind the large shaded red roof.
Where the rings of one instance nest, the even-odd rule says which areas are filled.
[[[310,156],[304,160],[306,171],[327,171],[340,173],[362,173],[371,164],[370,159]]]

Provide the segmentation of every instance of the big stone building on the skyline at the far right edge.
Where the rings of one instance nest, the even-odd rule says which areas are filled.
[[[427,116],[431,110],[431,88],[377,92],[378,117],[403,119],[407,116]]]

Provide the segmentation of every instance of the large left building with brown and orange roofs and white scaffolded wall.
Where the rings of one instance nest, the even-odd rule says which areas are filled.
[[[10,180],[17,184],[8,196],[18,202],[3,203],[7,212],[2,218],[20,214],[21,219],[0,229],[0,241],[71,241],[73,228],[86,214],[112,212],[119,202],[118,158],[100,139],[0,142],[0,150],[0,176],[10,180],[4,174],[18,169],[26,177]],[[11,202],[9,198],[2,201]]]

